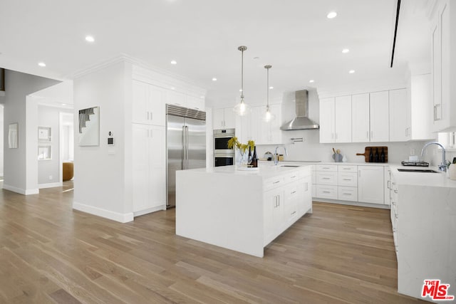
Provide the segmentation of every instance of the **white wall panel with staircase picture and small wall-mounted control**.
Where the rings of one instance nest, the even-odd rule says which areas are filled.
[[[131,201],[131,65],[120,62],[73,81],[75,113],[73,209],[116,221],[133,221]],[[100,145],[78,145],[78,110],[100,107]],[[108,132],[114,147],[108,147]],[[125,134],[127,136],[125,136]]]

